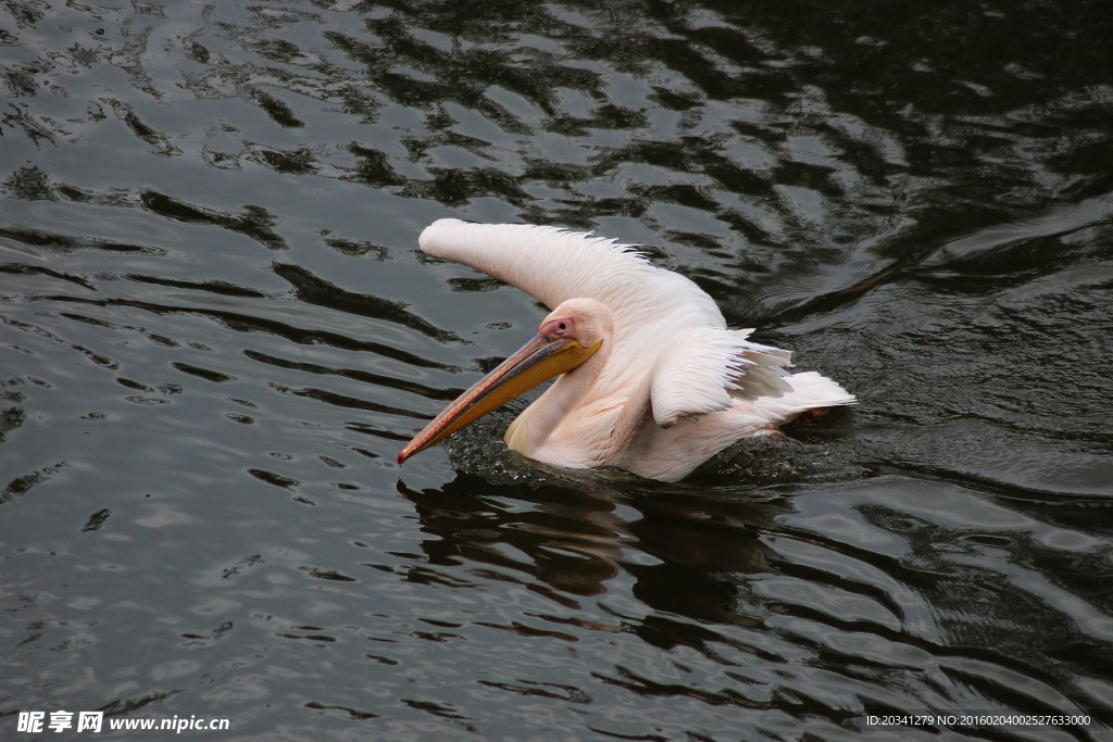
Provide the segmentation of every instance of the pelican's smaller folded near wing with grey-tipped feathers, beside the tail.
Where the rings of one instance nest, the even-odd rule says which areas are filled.
[[[735,398],[779,397],[791,352],[749,343],[752,330],[692,327],[674,337],[657,358],[650,400],[653,419],[671,427],[683,417],[722,412]]]

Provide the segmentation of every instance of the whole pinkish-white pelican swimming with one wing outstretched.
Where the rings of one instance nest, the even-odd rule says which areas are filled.
[[[727,329],[696,284],[629,245],[533,225],[441,219],[426,254],[471,266],[552,313],[536,337],[449,405],[398,464],[514,397],[559,379],[506,431],[522,455],[568,468],[615,466],[676,482],[731,443],[817,407],[854,404],[791,353]]]

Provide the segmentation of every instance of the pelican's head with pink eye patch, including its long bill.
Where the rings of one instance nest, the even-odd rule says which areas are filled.
[[[611,313],[594,299],[569,299],[541,320],[538,335],[456,397],[398,454],[402,464],[539,384],[567,374],[610,338]]]

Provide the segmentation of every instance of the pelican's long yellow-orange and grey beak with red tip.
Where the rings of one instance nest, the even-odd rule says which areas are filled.
[[[585,348],[571,338],[550,340],[543,335],[538,335],[433,418],[433,422],[402,449],[398,454],[398,464],[441,443],[456,431],[467,427],[539,384],[572,370],[598,350],[599,345],[595,343]]]

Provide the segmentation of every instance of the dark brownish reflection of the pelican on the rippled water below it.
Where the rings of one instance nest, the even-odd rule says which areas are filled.
[[[424,530],[436,536],[423,546],[430,563],[457,563],[459,555],[490,561],[548,584],[556,591],[553,595],[601,595],[609,581],[626,572],[637,578],[640,598],[653,607],[720,620],[721,612],[698,615],[698,602],[677,595],[676,584],[684,582],[678,577],[765,567],[758,528],[771,523],[774,513],[761,499],[699,501],[693,491],[660,489],[627,505],[610,491],[541,485],[513,491],[515,506],[506,507],[499,497],[509,493],[477,495],[490,486],[461,475],[435,491],[403,491]],[[535,509],[523,513],[522,503]],[[623,517],[630,507],[639,514],[636,521]],[[521,552],[525,560],[500,557],[505,548]],[[628,562],[629,550],[637,551],[638,561]],[[707,587],[705,580],[697,580],[690,585],[696,594],[702,592],[698,585]]]

